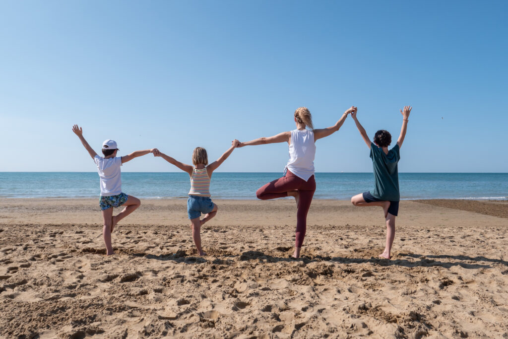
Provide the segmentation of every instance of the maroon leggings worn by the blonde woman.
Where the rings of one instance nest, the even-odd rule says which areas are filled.
[[[296,212],[296,240],[295,246],[301,247],[303,238],[305,238],[305,230],[307,229],[307,212],[309,211],[312,196],[316,190],[316,182],[312,175],[307,181],[297,177],[289,170],[285,176],[268,182],[261,187],[256,196],[261,200],[282,198],[288,196],[288,191],[297,190],[300,194],[298,202],[298,211]]]

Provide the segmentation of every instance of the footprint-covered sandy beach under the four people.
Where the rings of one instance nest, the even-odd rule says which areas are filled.
[[[97,199],[0,199],[0,337],[508,336],[506,202],[402,201],[393,260],[380,208],[314,200],[292,260],[294,201],[216,203],[206,257],[180,199],[105,257]]]

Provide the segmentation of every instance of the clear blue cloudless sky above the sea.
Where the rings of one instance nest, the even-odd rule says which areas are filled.
[[[400,172],[507,172],[506,1],[0,1],[0,171],[94,171],[90,145],[190,163],[231,140],[316,128],[355,105],[396,140]],[[395,142],[395,141],[394,141]],[[354,121],[317,141],[317,172],[370,172]],[[220,171],[278,172],[287,144]],[[177,171],[151,155],[123,171]]]

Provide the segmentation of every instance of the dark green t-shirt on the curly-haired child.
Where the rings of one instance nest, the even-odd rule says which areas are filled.
[[[385,154],[383,148],[370,143],[370,158],[374,168],[375,189],[370,192],[374,198],[385,201],[399,201],[399,145],[395,145]]]

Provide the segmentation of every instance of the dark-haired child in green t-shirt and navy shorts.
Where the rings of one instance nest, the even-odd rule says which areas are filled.
[[[365,129],[362,127],[356,116],[357,109],[351,116],[355,120],[356,127],[362,135],[363,141],[370,148],[370,158],[374,169],[374,190],[357,194],[351,198],[355,206],[381,206],[385,212],[386,219],[386,247],[379,255],[380,258],[390,259],[393,239],[395,238],[395,217],[399,211],[399,173],[397,164],[400,160],[400,147],[404,141],[407,130],[407,121],[411,106],[405,106],[402,113],[402,129],[397,144],[390,150],[388,146],[392,143],[392,136],[388,131],[379,130],[374,135],[374,142],[371,142]]]

